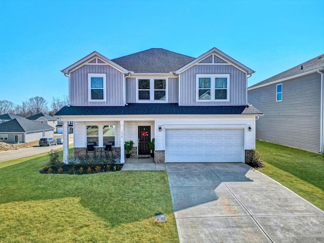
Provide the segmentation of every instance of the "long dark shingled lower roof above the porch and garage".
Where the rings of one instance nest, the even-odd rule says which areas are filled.
[[[132,103],[126,106],[64,106],[55,115],[262,115],[254,106],[179,106]]]

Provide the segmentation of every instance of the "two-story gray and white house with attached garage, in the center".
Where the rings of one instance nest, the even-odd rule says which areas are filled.
[[[62,70],[69,80],[69,105],[56,113],[67,141],[73,121],[73,156],[112,143],[125,161],[125,141],[133,157],[156,163],[240,162],[255,149],[255,119],[247,83],[254,71],[213,48],[193,58],[149,49],[108,59],[93,52]],[[64,161],[68,144],[64,144]]]

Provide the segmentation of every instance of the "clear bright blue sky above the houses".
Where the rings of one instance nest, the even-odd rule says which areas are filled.
[[[213,47],[255,70],[249,86],[324,53],[324,1],[0,0],[0,100],[68,95],[60,70],[97,51]]]

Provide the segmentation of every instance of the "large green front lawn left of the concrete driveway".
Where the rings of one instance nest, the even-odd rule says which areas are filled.
[[[0,163],[0,242],[179,242],[166,172],[39,174],[46,161]]]

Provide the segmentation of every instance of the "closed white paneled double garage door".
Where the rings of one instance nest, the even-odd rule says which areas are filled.
[[[166,129],[168,162],[244,162],[243,129]]]

